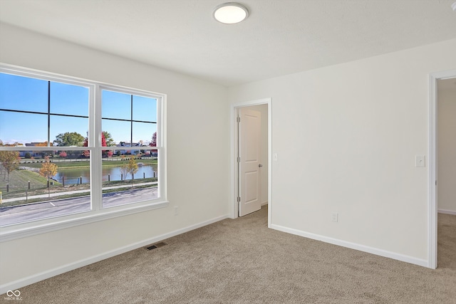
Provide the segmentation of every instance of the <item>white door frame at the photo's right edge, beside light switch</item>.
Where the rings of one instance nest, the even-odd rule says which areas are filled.
[[[429,219],[427,221],[427,267],[437,268],[437,80],[456,78],[456,70],[429,75]]]

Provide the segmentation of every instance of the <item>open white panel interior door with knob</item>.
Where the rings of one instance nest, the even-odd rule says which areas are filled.
[[[261,209],[261,113],[248,108],[238,112],[239,216]]]

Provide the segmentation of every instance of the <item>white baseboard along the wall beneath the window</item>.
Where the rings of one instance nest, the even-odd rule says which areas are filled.
[[[156,243],[157,241],[162,241],[162,240],[165,240],[165,239],[169,239],[172,236],[177,236],[179,234],[183,234],[185,232],[198,229],[198,228],[200,228],[202,226],[207,226],[207,225],[215,223],[217,221],[222,221],[223,219],[228,219],[228,217],[229,217],[228,215],[218,216],[218,217],[216,217],[214,219],[209,219],[208,221],[203,221],[202,223],[199,223],[199,224],[195,224],[195,225],[192,225],[192,226],[187,226],[187,227],[182,228],[182,229],[177,229],[177,230],[172,231],[172,232],[167,233],[167,234],[162,234],[160,236],[155,236],[155,237],[150,238],[150,239],[145,239],[143,241],[130,244],[128,246],[123,246],[123,247],[117,248],[117,249],[115,249],[113,251],[108,251],[108,252],[105,252],[105,253],[98,254],[96,256],[91,256],[90,258],[84,258],[83,260],[80,260],[80,261],[76,261],[76,262],[73,262],[73,263],[68,263],[66,265],[63,265],[63,266],[60,266],[60,267],[57,267],[57,268],[53,268],[53,269],[48,270],[48,271],[43,271],[41,273],[37,273],[37,274],[35,274],[33,276],[28,276],[26,278],[21,278],[20,280],[17,280],[17,281],[13,281],[13,282],[9,282],[9,283],[0,285],[0,295],[6,293],[8,290],[17,290],[17,289],[22,288],[22,287],[24,287],[26,285],[30,285],[30,284],[33,284],[33,283],[36,283],[36,282],[39,282],[39,281],[46,280],[46,278],[51,278],[53,276],[58,276],[61,273],[66,273],[68,271],[73,271],[74,269],[81,268],[83,266],[87,266],[87,265],[90,265],[92,263],[96,263],[96,262],[105,260],[106,258],[111,258],[113,256],[118,256],[121,253],[125,253],[125,252],[128,252],[128,251],[132,251],[132,250],[141,248],[143,246],[149,245],[150,243]]]

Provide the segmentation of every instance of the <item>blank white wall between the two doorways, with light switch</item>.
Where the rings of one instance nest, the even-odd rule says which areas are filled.
[[[427,266],[428,74],[456,39],[229,88],[271,98],[271,227]],[[331,214],[338,213],[338,222]]]

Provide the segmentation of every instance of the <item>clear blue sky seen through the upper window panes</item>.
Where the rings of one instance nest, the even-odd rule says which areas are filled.
[[[51,82],[51,113],[88,116],[88,88]],[[102,117],[130,120],[130,95],[103,90]],[[48,112],[48,81],[0,73],[0,109]],[[157,121],[157,100],[133,95],[133,120]],[[64,132],[87,136],[88,118],[51,115],[51,142]],[[102,120],[103,131],[116,143],[130,142],[130,122]],[[133,142],[150,142],[156,124],[133,122]],[[44,142],[48,116],[0,110],[0,140],[4,143]]]

